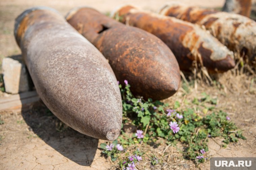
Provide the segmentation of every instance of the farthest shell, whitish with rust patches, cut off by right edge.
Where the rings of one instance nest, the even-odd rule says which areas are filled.
[[[204,25],[230,50],[245,53],[250,60],[256,57],[256,22],[248,17],[181,4],[168,4],[161,14]]]

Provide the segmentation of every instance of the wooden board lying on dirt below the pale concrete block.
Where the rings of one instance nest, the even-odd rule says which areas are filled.
[[[24,92],[9,97],[0,98],[0,112],[21,112],[30,109],[40,98],[36,91]]]

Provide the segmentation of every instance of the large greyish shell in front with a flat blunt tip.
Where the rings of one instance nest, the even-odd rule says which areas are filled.
[[[122,102],[104,56],[51,8],[23,12],[14,34],[45,105],[73,129],[115,140],[121,129]]]

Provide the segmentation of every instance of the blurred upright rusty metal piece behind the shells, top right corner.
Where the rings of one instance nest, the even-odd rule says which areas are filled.
[[[250,17],[252,0],[226,0],[222,11]]]

